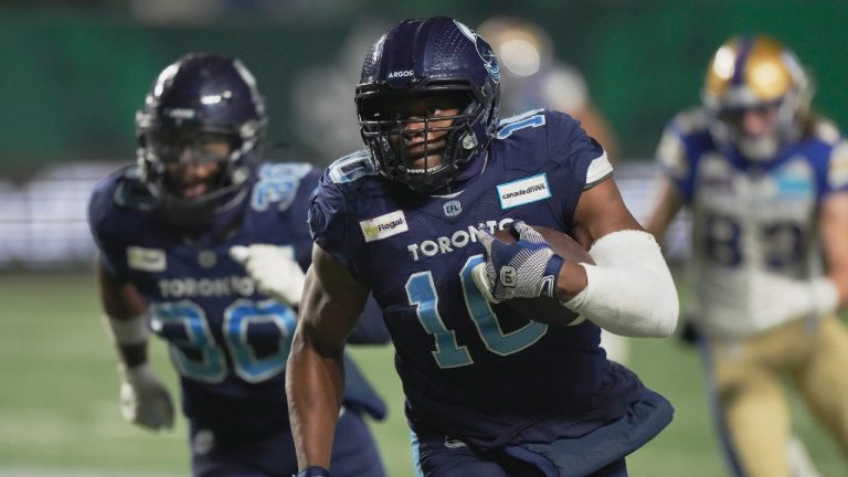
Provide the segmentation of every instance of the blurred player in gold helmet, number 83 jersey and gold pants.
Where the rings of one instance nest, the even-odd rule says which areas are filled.
[[[810,113],[795,54],[765,35],[717,51],[703,106],[668,125],[647,229],[692,213],[691,326],[736,475],[788,476],[783,382],[848,451],[848,145]],[[824,261],[823,261],[824,258]],[[797,475],[797,470],[793,474]]]

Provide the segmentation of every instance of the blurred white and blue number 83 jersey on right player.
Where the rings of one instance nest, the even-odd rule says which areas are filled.
[[[717,141],[709,120],[701,109],[678,115],[658,156],[692,212],[691,319],[710,336],[744,337],[768,326],[755,310],[780,307],[770,277],[822,275],[818,208],[848,189],[848,147],[818,120],[757,163]]]

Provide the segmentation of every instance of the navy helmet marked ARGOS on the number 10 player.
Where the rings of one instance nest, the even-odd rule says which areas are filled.
[[[394,102],[439,94],[454,98],[459,108],[457,115],[439,118],[452,119],[448,127],[434,127],[432,117],[412,119],[388,113]],[[406,20],[371,46],[356,104],[362,139],[380,173],[415,191],[433,192],[454,180],[495,134],[500,105],[498,61],[483,38],[456,20]],[[446,132],[441,162],[411,168],[403,140],[434,131]]]

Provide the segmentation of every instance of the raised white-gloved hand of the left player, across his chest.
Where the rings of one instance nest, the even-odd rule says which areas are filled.
[[[230,256],[244,265],[247,274],[256,282],[259,293],[289,306],[300,303],[306,274],[295,259],[290,246],[236,245],[230,248]]]

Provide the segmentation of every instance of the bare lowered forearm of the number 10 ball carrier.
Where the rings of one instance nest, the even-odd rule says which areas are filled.
[[[303,324],[292,344],[286,394],[300,469],[329,468],[336,421],[341,409],[344,370],[341,352],[322,354],[306,338]]]

